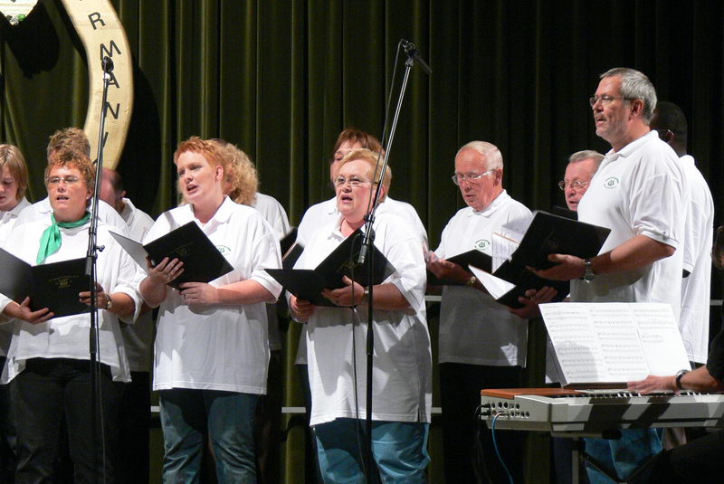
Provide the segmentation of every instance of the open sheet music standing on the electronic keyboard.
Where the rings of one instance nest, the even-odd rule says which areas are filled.
[[[564,302],[542,304],[540,312],[563,386],[622,388],[690,368],[668,304]]]

